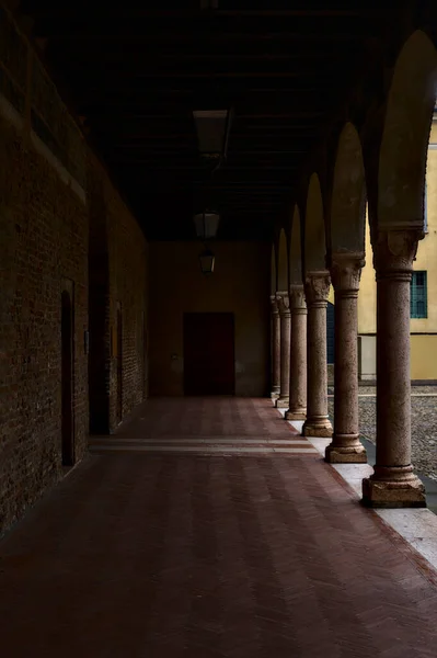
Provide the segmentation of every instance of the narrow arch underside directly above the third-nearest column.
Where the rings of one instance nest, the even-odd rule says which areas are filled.
[[[314,172],[310,178],[304,222],[304,270],[326,269],[326,239],[323,197],[320,180]]]

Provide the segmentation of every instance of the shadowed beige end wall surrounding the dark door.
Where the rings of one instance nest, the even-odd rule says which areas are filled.
[[[200,272],[200,250],[199,242],[150,243],[150,395],[183,395],[183,314],[221,311],[235,318],[235,394],[263,396],[269,375],[271,247],[216,242],[211,276]]]

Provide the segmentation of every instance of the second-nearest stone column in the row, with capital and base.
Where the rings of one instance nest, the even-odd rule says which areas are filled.
[[[334,435],[326,447],[331,464],[367,462],[358,421],[358,290],[364,253],[333,253],[335,293]]]

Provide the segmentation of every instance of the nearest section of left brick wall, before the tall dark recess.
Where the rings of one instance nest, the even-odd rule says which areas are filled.
[[[0,120],[0,527],[61,477],[60,319],[73,284],[76,456],[85,452],[88,217],[83,200]]]

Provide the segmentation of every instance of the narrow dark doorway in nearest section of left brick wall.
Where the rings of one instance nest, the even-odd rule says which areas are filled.
[[[61,432],[62,432],[62,466],[74,463],[73,415],[72,415],[72,304],[70,293],[61,295]]]

